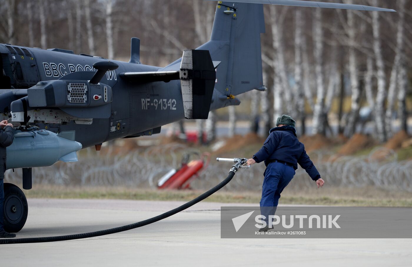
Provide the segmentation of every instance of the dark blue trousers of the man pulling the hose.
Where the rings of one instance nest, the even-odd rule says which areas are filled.
[[[260,213],[266,217],[266,223],[269,221],[269,215],[275,214],[281,193],[294,175],[295,169],[284,163],[273,162],[267,165],[260,200]]]

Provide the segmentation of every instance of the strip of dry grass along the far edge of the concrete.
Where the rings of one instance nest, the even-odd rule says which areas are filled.
[[[24,190],[29,198],[57,199],[123,199],[189,201],[203,191],[154,190],[122,187],[63,187],[35,186]],[[260,192],[220,191],[208,197],[208,202],[259,204]],[[308,188],[287,190],[282,193],[281,204],[331,205],[331,206],[376,206],[412,207],[412,193],[382,190],[377,188]]]

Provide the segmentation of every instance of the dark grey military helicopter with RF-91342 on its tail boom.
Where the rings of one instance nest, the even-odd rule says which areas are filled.
[[[236,95],[264,91],[262,4],[394,11],[298,0],[218,1],[210,41],[166,67],[140,62],[138,38],[131,38],[129,62],[0,44],[0,120],[15,126],[6,168],[22,168],[23,188],[30,189],[33,167],[77,161],[82,148],[154,135],[183,118],[207,119],[210,110],[240,104]],[[10,183],[4,214],[8,232],[26,223],[26,197]]]

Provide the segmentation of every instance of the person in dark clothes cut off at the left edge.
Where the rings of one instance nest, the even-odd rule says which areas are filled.
[[[4,205],[4,172],[6,171],[6,147],[13,143],[13,124],[7,121],[0,122],[0,238],[16,237],[15,234],[6,232],[3,228]]]

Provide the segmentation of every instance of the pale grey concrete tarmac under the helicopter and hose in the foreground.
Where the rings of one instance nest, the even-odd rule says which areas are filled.
[[[28,199],[17,238],[103,230],[183,202]],[[412,239],[221,239],[220,206],[201,202],[141,228],[103,237],[0,245],[0,266],[411,266]],[[253,205],[251,205],[253,206]]]

